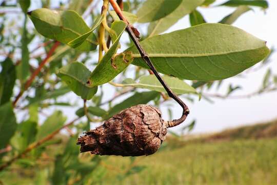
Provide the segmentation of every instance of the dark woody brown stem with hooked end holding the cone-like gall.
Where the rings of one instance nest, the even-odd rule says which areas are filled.
[[[175,95],[173,93],[173,91],[169,88],[169,86],[162,79],[161,75],[157,72],[157,70],[154,67],[154,65],[152,64],[148,54],[143,49],[143,47],[141,46],[140,42],[138,41],[135,33],[133,32],[132,26],[129,24],[129,22],[126,20],[126,18],[123,16],[121,8],[117,5],[117,3],[114,0],[109,0],[109,2],[112,5],[112,7],[113,7],[114,11],[116,12],[116,14],[118,15],[118,17],[120,17],[120,19],[122,21],[124,21],[125,24],[127,25],[126,31],[128,32],[129,36],[131,37],[132,41],[134,42],[137,50],[140,52],[142,59],[146,62],[146,64],[149,66],[149,68],[153,71],[156,78],[161,82],[161,84],[167,91],[168,96],[173,98],[183,108],[183,114],[182,114],[181,118],[168,122],[168,127],[173,127],[173,126],[179,125],[180,123],[185,121],[185,119],[187,118],[187,116],[189,114],[188,106],[179,97],[177,97],[177,95]]]

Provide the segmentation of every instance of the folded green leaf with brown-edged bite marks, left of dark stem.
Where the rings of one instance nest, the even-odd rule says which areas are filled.
[[[110,47],[108,52],[104,55],[103,59],[91,73],[89,78],[90,87],[102,85],[111,81],[133,61],[131,52],[120,53],[114,57],[120,41],[120,36],[125,30],[125,27],[126,25],[123,21],[113,22],[111,28],[116,32],[118,37],[113,42],[113,45]]]

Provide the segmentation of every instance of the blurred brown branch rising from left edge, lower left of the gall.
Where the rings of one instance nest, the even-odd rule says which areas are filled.
[[[73,121],[65,124],[64,126],[62,126],[61,128],[59,128],[58,130],[52,132],[51,134],[49,134],[48,136],[46,136],[45,138],[34,142],[32,144],[30,144],[21,154],[16,155],[15,157],[11,158],[9,161],[7,161],[6,163],[2,164],[0,166],[0,172],[3,171],[4,169],[6,169],[7,167],[9,167],[9,165],[11,165],[14,161],[16,161],[17,159],[21,159],[23,158],[27,153],[31,152],[33,149],[35,149],[38,146],[41,146],[43,143],[45,143],[46,141],[49,141],[50,139],[52,139],[55,135],[57,135],[58,133],[60,133],[61,130],[63,130],[64,128],[72,125],[75,121],[77,121],[79,118],[75,118]]]

